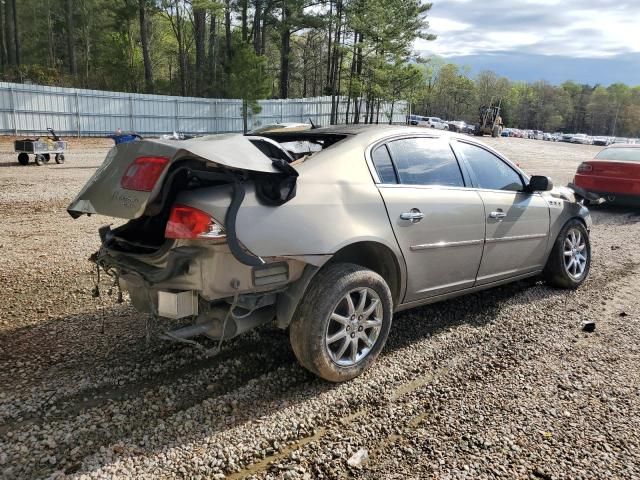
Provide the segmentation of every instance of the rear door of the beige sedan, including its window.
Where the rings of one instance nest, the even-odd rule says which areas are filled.
[[[371,162],[407,264],[404,302],[471,287],[482,257],[484,207],[448,140],[404,137],[375,146]]]

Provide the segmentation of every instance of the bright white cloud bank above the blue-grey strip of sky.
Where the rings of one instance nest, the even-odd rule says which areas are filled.
[[[624,0],[434,0],[438,38],[416,50],[448,56],[522,52],[604,58],[640,52],[640,5]]]

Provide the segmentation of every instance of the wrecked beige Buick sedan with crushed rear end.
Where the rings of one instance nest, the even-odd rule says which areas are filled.
[[[275,322],[337,382],[371,366],[395,312],[526,277],[579,287],[582,200],[474,138],[342,126],[120,144],[68,211],[125,220],[92,259],[174,319],[165,338]]]

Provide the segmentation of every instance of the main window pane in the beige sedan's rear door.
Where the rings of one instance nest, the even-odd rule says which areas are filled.
[[[389,142],[388,147],[400,183],[464,187],[458,161],[447,141],[406,138]]]

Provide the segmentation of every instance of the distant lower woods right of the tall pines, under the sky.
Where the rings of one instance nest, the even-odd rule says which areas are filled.
[[[490,71],[472,77],[468,69],[438,58],[422,60],[419,67],[424,81],[409,97],[417,114],[475,123],[480,105],[501,100],[509,127],[640,136],[640,85],[513,82]]]

